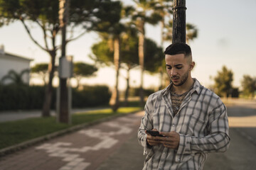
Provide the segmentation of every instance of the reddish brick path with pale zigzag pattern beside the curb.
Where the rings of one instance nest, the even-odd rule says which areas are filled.
[[[139,112],[114,118],[1,157],[0,169],[93,170],[100,168],[100,165],[103,166],[103,162],[115,150],[122,145],[127,145],[127,142],[129,145],[131,137],[136,137],[142,114],[143,112]],[[133,145],[134,149],[141,148],[137,142]],[[129,157],[141,160],[137,164],[139,167],[134,169],[142,169],[144,160],[142,148],[139,157],[133,157],[131,154]]]

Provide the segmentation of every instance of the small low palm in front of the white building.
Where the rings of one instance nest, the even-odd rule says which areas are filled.
[[[6,80],[11,80],[12,84],[16,84],[16,85],[24,85],[26,84],[22,77],[24,74],[29,74],[29,69],[23,69],[20,73],[14,71],[14,69],[11,69],[8,74],[6,74],[1,81],[4,82]]]

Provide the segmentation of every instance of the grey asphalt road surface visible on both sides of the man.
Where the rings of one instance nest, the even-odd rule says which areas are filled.
[[[256,169],[256,102],[235,101],[232,103],[227,106],[230,148],[225,153],[209,154],[204,166],[206,170]],[[137,147],[137,136],[133,135],[97,170],[141,169],[141,162],[144,159],[141,154],[142,148]]]

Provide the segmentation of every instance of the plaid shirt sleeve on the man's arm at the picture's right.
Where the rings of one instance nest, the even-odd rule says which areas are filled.
[[[185,154],[193,155],[198,152],[225,152],[230,145],[228,135],[227,108],[218,98],[215,108],[211,111],[208,120],[208,135],[196,137],[180,134],[176,161],[181,161]]]

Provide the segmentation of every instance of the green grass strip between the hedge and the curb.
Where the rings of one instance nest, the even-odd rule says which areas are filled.
[[[49,118],[28,118],[26,120],[16,120],[0,123],[0,149],[17,145],[21,142],[48,135],[52,132],[64,130],[75,125],[90,123],[94,120],[107,118],[111,115],[131,113],[140,111],[142,108],[129,107],[119,108],[117,112],[111,109],[102,109],[98,111],[88,111],[72,115],[72,125],[56,123],[55,117]]]

